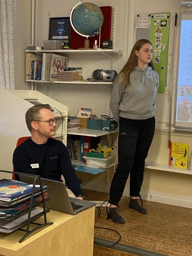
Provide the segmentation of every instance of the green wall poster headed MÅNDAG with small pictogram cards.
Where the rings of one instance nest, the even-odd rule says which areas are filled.
[[[164,93],[167,79],[168,37],[170,12],[150,14],[150,42],[153,45],[153,64],[159,74],[158,92]]]

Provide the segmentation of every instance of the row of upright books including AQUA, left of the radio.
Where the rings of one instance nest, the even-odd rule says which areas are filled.
[[[51,53],[37,55],[35,53],[26,53],[26,79],[56,81],[57,74],[66,72],[69,77],[73,73],[79,75],[82,73],[82,67],[69,67],[69,57]],[[79,76],[78,79],[82,79]]]

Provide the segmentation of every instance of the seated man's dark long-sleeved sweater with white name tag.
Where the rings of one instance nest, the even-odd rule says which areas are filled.
[[[50,138],[45,144],[36,144],[31,138],[25,140],[14,150],[12,162],[15,171],[45,179],[60,181],[63,175],[67,187],[76,196],[83,195],[69,152],[60,140]]]

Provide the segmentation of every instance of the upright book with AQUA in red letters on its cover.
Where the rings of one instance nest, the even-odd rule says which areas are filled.
[[[63,72],[69,67],[69,58],[62,55],[52,54],[50,61],[49,80],[56,81],[57,73]]]

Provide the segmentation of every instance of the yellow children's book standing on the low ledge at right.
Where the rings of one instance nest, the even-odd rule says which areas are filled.
[[[171,142],[169,165],[187,169],[189,145]]]

